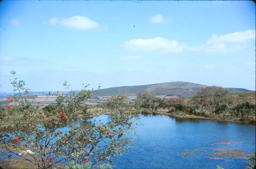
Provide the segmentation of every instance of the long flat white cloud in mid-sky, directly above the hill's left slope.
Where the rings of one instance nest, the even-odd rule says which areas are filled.
[[[133,51],[161,51],[179,53],[183,47],[176,40],[168,40],[161,37],[154,39],[132,39],[123,43],[123,47]]]

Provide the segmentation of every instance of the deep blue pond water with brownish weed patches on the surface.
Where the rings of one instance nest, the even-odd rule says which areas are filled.
[[[97,119],[104,122],[109,116]],[[72,124],[83,121],[77,119]],[[246,155],[255,152],[252,124],[160,115],[139,115],[137,122],[143,125],[135,130],[139,135],[134,136],[136,143],[123,155],[112,158],[114,168],[245,168]],[[60,130],[68,129],[67,126]]]

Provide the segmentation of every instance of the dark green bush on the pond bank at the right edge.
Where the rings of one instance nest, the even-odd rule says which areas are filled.
[[[230,108],[232,114],[244,117],[246,115],[255,115],[255,104],[248,101],[238,103]]]

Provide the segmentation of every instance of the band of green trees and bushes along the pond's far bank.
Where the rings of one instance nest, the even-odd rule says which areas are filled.
[[[113,96],[105,105],[110,106],[113,102],[121,101],[120,105],[129,106],[142,113],[165,111],[169,114],[188,114],[207,118],[220,118],[236,121],[250,121],[255,123],[255,97],[254,103],[243,100],[237,103],[235,94],[219,87],[204,87],[191,98],[161,99],[150,92],[139,92],[134,103],[125,103],[124,95]],[[255,96],[255,92],[254,92]]]

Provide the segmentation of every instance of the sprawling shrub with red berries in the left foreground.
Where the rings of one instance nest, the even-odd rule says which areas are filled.
[[[65,96],[57,93],[57,102],[44,108],[30,103],[22,97],[25,82],[17,80],[11,71],[11,82],[18,97],[8,101],[22,102],[22,105],[9,105],[4,109],[7,114],[1,125],[9,125],[0,131],[0,143],[13,155],[26,160],[38,168],[57,167],[60,162],[74,161],[74,164],[87,164],[91,168],[102,163],[111,164],[111,157],[122,154],[133,142],[129,133],[133,128],[133,116],[118,108],[118,98],[112,104],[113,111],[106,123],[93,120],[73,126],[69,121],[84,112],[84,104],[91,97],[87,86],[79,93],[71,92]],[[68,89],[67,82],[63,83]],[[121,99],[122,100],[122,99]],[[2,115],[2,114],[1,114]],[[61,127],[69,125],[68,131]],[[20,154],[20,152],[30,152]],[[84,166],[84,165],[81,165]],[[86,165],[87,166],[87,165]],[[76,167],[76,165],[74,165]]]

